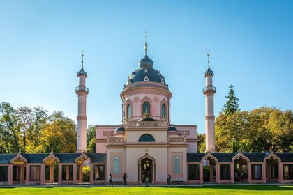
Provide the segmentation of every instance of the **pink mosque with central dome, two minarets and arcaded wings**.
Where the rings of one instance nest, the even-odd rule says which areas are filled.
[[[90,166],[90,184],[293,182],[293,153],[217,153],[213,109],[213,71],[204,73],[206,152],[197,153],[197,126],[171,123],[170,92],[163,74],[147,55],[128,76],[123,91],[122,124],[96,126],[96,153],[87,153],[87,72],[77,72],[78,99],[76,153],[0,154],[0,185],[83,183],[82,166]],[[87,163],[85,163],[87,162]],[[55,166],[55,168],[54,168]],[[56,169],[56,166],[58,167]],[[204,166],[208,168],[204,169]],[[55,171],[56,170],[56,171]],[[207,170],[204,171],[204,170]]]

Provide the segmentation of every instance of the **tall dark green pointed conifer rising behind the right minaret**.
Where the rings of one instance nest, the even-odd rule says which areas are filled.
[[[225,96],[228,100],[224,105],[224,113],[227,115],[233,114],[235,111],[240,111],[238,104],[239,98],[236,98],[233,87],[231,84],[228,96]]]

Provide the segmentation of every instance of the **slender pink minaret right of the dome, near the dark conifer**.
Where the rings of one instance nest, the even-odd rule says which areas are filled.
[[[209,65],[209,53],[208,65]],[[215,115],[213,114],[213,95],[216,93],[216,87],[213,86],[213,71],[210,68],[204,73],[206,78],[206,87],[203,93],[206,99],[206,152],[216,152],[215,149]]]

